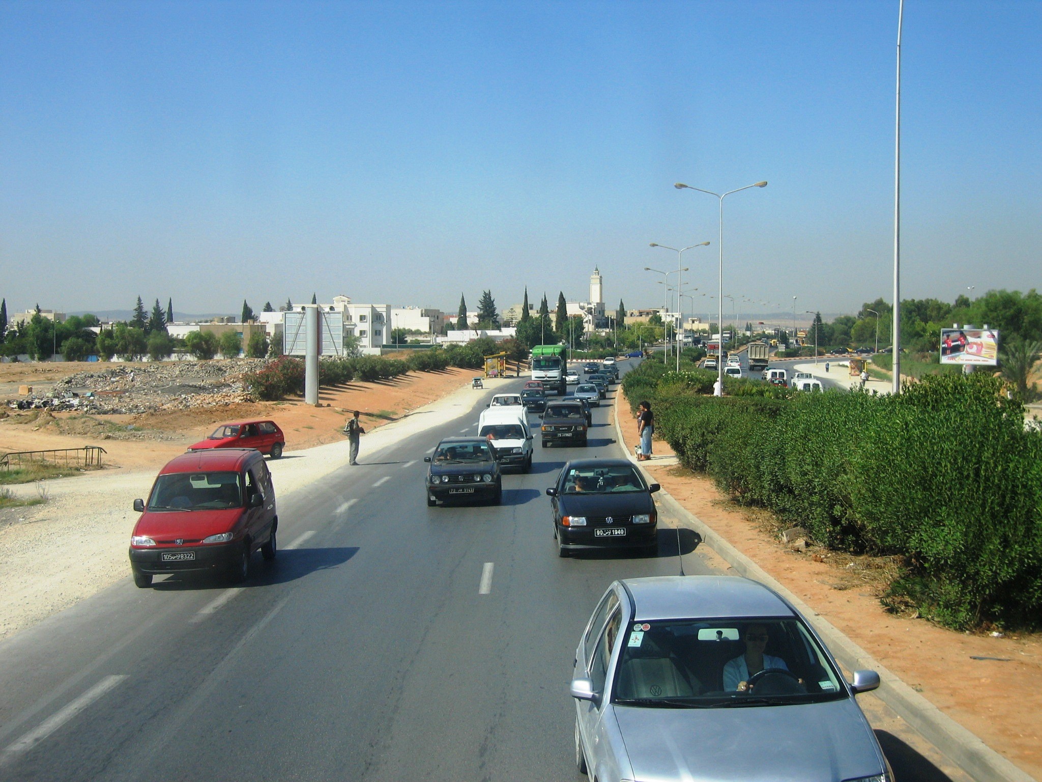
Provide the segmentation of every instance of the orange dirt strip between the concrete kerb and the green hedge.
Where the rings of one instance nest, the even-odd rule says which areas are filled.
[[[635,443],[639,439],[637,422],[621,390],[619,399],[617,413],[625,442]],[[656,456],[673,453],[668,443],[658,439],[652,451]],[[776,524],[771,514],[729,500],[710,479],[680,466],[658,466],[654,460],[641,464],[684,508],[905,684],[989,747],[1042,779],[1042,637],[959,633],[925,619],[891,613],[879,602],[887,562],[822,556],[821,549],[815,548],[794,552],[772,534]]]

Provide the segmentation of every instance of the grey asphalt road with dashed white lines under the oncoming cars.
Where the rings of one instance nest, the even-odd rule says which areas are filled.
[[[712,570],[668,528],[655,558],[556,556],[544,490],[618,454],[606,408],[587,449],[537,439],[501,506],[427,508],[423,456],[479,409],[383,453],[364,438],[359,466],[279,497],[282,549],[241,588],[127,578],[0,645],[0,779],[575,779],[567,686],[596,601]],[[897,744],[904,779],[947,779]]]

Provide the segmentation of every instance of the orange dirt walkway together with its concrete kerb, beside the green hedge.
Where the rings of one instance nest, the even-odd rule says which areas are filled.
[[[619,437],[634,443],[637,424],[621,391],[616,405]],[[957,633],[889,613],[855,558],[791,549],[758,522],[765,511],[729,502],[709,478],[667,466],[675,460],[668,443],[656,439],[653,451],[661,462],[639,464],[663,486],[661,507],[699,532],[733,572],[776,581],[805,604],[841,662],[879,669],[878,697],[938,749],[977,780],[1042,779],[1039,636]]]

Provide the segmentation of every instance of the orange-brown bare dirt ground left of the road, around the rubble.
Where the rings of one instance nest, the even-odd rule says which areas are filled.
[[[0,397],[18,398],[19,384],[34,388],[53,385],[84,368],[96,370],[98,364],[0,364],[0,389],[6,392],[0,392]],[[100,445],[105,448],[103,459],[108,467],[152,469],[206,437],[217,424],[254,417],[271,418],[281,427],[287,450],[307,448],[343,439],[341,430],[349,411],[357,409],[363,426],[371,431],[444,396],[473,374],[472,369],[451,368],[442,372],[410,372],[392,381],[323,388],[318,408],[299,398],[137,415],[52,414],[4,408],[7,416],[0,418],[0,453]],[[13,387],[15,392],[10,391]]]

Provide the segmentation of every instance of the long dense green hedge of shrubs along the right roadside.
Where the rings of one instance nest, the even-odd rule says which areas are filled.
[[[1042,433],[984,373],[927,375],[902,393],[695,393],[642,365],[623,387],[648,398],[683,464],[819,543],[902,555],[893,595],[954,628],[1038,626],[1042,616]]]

